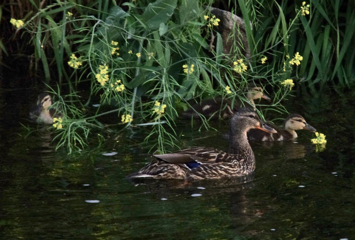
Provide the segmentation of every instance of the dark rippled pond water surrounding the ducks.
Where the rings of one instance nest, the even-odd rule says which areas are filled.
[[[140,144],[144,129],[103,133],[102,148],[72,155],[54,151],[50,128],[24,137],[18,122],[28,125],[21,118],[28,102],[20,94],[0,97],[0,239],[355,239],[352,99],[286,102],[326,135],[323,151],[299,131],[297,142],[252,143],[256,170],[248,179],[181,186],[125,178],[152,159]],[[177,122],[182,148],[227,149],[219,132],[198,126]],[[102,155],[112,151],[119,153]]]

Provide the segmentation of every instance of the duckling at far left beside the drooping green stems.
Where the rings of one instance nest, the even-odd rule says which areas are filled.
[[[61,117],[62,114],[56,112],[56,108],[54,107],[49,108],[52,103],[52,99],[48,93],[40,93],[37,104],[29,112],[29,119],[37,123],[53,124],[53,117]]]

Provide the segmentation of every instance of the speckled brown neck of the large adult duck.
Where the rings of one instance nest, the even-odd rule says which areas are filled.
[[[246,131],[234,129],[234,133],[230,133],[229,137],[229,153],[239,154],[245,160],[255,161],[254,153],[246,137]]]

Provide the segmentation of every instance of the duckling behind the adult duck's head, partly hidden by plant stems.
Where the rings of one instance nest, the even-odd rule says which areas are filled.
[[[246,99],[250,102],[250,106],[255,109],[254,100],[264,98],[270,101],[265,93],[262,92],[262,87],[257,85],[249,84],[248,87],[243,89]],[[227,98],[209,98],[202,100],[199,103],[194,104],[189,107],[187,110],[181,113],[181,116],[184,118],[197,118],[199,115],[203,115],[206,118],[218,118],[220,115],[222,118],[228,118],[233,116],[234,112],[240,108],[242,102],[234,102],[233,107],[231,107],[232,102]]]

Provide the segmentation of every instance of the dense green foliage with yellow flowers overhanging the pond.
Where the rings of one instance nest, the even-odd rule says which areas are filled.
[[[39,1],[30,3],[33,12],[28,11],[20,27],[32,37],[36,62],[42,63],[48,79],[54,77],[50,65],[56,65],[59,85],[65,79],[70,86],[66,98],[53,91],[65,115],[63,127],[57,129],[58,146],[66,145],[69,151],[77,142],[84,146],[83,136],[91,127],[103,127],[98,115],[112,111],[127,126],[151,124],[147,137],[156,135],[157,148],[163,150],[174,141],[173,130],[165,128],[173,129],[179,111],[200,99],[222,95],[245,100],[243,87],[257,82],[271,85],[268,89],[275,92],[268,109],[285,111],[280,101],[292,85],[278,84],[281,81],[306,82],[307,89],[319,95],[326,85],[350,86],[355,79],[355,51],[350,48],[355,8],[350,2],[230,1],[231,11],[251,23],[245,24],[249,58],[222,53],[221,35],[210,24],[208,7],[203,7],[213,1],[64,1],[45,7]],[[209,51],[211,32],[217,40]],[[239,34],[237,26],[232,34]],[[245,68],[238,71],[235,67],[241,64]],[[98,108],[93,116],[81,111],[90,106],[90,97],[81,105],[75,92],[86,78],[91,81],[89,96],[99,96],[101,106],[114,110]],[[202,124],[207,126],[207,121]]]

